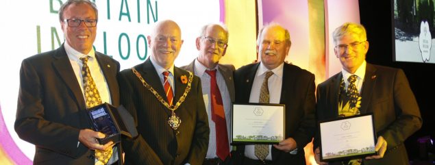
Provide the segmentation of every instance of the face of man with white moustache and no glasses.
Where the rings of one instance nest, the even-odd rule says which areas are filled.
[[[257,51],[261,62],[272,70],[282,64],[290,50],[290,42],[286,42],[286,30],[280,26],[266,27],[259,37]]]

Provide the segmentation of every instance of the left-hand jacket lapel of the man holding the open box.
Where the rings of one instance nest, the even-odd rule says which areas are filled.
[[[68,55],[66,55],[64,45],[57,49],[53,57],[55,60],[53,60],[52,64],[55,72],[64,80],[66,86],[68,86],[68,88],[73,92],[77,105],[79,105],[82,110],[86,110],[82,90],[80,89],[77,78],[75,77],[73,66],[71,66]]]

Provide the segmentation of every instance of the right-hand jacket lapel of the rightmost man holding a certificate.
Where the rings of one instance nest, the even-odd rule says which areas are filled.
[[[371,94],[373,93],[373,89],[375,88],[376,83],[376,68],[367,63],[366,66],[366,75],[364,76],[364,81],[362,82],[361,89],[361,114],[365,114],[367,112],[367,108],[370,105]]]

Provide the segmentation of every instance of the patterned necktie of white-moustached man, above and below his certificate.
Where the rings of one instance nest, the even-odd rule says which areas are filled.
[[[267,71],[266,76],[263,79],[263,84],[260,89],[260,99],[258,99],[258,103],[269,103],[269,77],[273,75],[272,71]],[[259,160],[264,161],[269,155],[269,145],[267,144],[256,144],[254,147],[255,155]]]

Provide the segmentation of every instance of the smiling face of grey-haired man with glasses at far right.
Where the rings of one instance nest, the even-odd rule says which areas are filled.
[[[347,46],[340,49],[337,45]],[[349,73],[355,73],[361,66],[366,58],[367,51],[369,51],[369,42],[355,34],[346,34],[338,38],[334,48],[334,53],[340,60],[343,69]]]

